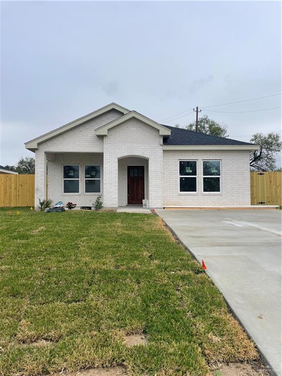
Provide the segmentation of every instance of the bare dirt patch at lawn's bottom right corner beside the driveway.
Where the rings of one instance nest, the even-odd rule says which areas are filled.
[[[261,363],[222,364],[211,372],[213,376],[269,376]]]

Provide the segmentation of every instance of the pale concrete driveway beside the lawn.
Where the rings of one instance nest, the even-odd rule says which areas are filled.
[[[157,210],[224,295],[277,375],[281,370],[281,211]]]

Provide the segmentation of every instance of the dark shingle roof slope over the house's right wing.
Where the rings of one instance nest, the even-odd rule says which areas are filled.
[[[254,145],[250,142],[224,139],[223,137],[206,135],[205,133],[188,131],[188,129],[164,127],[171,130],[171,135],[164,138],[164,145]]]

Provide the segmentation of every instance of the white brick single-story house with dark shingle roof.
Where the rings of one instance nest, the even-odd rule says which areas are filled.
[[[257,145],[160,124],[111,103],[25,143],[41,198],[104,207],[250,205]],[[47,167],[48,166],[48,167]],[[48,176],[47,176],[48,171]]]

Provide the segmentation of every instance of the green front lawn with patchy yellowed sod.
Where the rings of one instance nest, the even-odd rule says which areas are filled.
[[[0,375],[209,373],[254,344],[155,215],[0,210]],[[142,333],[148,346],[126,347]]]

